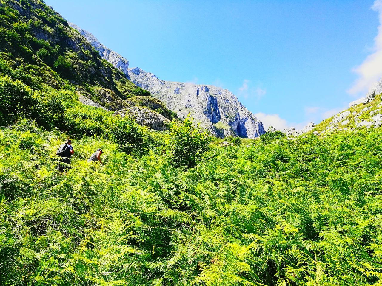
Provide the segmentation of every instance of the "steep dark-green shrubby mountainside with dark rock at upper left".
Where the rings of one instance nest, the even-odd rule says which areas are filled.
[[[35,0],[0,4],[0,58],[12,68],[39,79],[42,86],[74,85],[79,93],[112,110],[130,106],[124,100],[136,86],[102,60],[60,14]],[[57,66],[60,56],[63,64]],[[157,104],[152,97],[146,101],[150,99]]]

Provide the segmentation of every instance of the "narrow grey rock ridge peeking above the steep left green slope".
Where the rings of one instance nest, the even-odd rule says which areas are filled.
[[[119,69],[124,74],[127,74],[129,62],[123,58],[120,54],[115,53],[109,48],[102,45],[94,35],[81,29],[76,24],[68,23],[70,27],[76,29],[81,35],[83,35],[89,43],[100,53],[101,57],[111,63],[115,68]]]

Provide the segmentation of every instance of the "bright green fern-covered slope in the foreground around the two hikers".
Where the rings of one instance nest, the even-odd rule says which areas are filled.
[[[28,123],[0,131],[2,285],[382,278],[380,129],[213,147],[193,169],[170,167],[162,148],[133,159],[83,137],[61,175],[64,138]],[[99,147],[105,165],[87,164]]]

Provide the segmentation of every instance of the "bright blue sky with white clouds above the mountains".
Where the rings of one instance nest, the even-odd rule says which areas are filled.
[[[279,129],[332,116],[382,76],[380,2],[45,2],[130,67],[227,88]]]

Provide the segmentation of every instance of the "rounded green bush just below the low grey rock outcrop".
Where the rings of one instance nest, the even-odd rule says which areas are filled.
[[[147,149],[148,133],[144,127],[128,116],[112,117],[109,123],[109,135],[117,143],[121,150],[130,154],[133,149],[137,153],[143,153]]]

